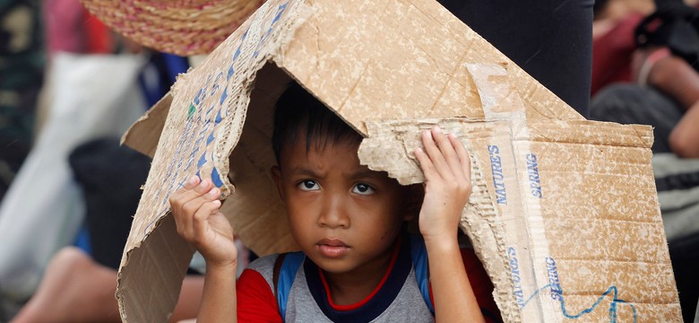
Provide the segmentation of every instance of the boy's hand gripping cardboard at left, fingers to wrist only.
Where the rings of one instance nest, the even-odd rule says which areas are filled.
[[[211,266],[237,266],[237,248],[229,220],[220,213],[220,189],[197,176],[170,195],[177,233],[194,245]]]

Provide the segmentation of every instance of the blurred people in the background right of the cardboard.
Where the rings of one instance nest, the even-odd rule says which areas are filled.
[[[699,321],[699,10],[695,1],[655,4],[596,32],[590,118],[653,127],[653,172],[682,314]]]

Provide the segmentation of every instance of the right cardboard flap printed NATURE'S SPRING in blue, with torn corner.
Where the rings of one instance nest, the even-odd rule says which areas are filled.
[[[681,321],[663,248],[649,127],[371,122],[359,157],[402,184],[419,183],[409,152],[419,146],[419,130],[436,124],[472,154],[474,189],[462,229],[496,284],[498,307],[513,314],[508,321]]]

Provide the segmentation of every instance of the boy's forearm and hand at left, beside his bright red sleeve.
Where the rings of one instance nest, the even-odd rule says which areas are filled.
[[[219,196],[210,180],[194,176],[169,198],[177,233],[206,260],[199,322],[237,322],[237,248]]]

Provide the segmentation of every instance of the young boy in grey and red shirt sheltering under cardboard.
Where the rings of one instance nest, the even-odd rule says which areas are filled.
[[[294,254],[257,259],[236,284],[237,249],[219,211],[220,190],[193,177],[170,204],[177,231],[206,259],[199,321],[477,322],[496,312],[488,276],[457,241],[471,188],[469,155],[455,136],[438,127],[422,134],[424,150],[414,152],[426,178],[422,199],[419,187],[359,164],[362,137],[298,84],[276,109],[272,179],[302,264],[285,291],[278,284],[288,269],[281,264]],[[422,292],[411,252],[423,240],[405,233],[418,214],[420,248],[429,258]]]

